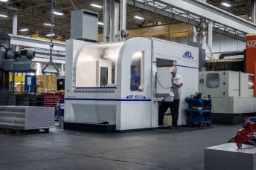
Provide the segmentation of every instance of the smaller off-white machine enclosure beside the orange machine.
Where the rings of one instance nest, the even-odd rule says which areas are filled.
[[[199,72],[202,97],[211,96],[212,112],[246,114],[256,111],[254,75],[238,71]]]

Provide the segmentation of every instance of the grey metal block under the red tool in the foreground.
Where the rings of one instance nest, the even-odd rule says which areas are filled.
[[[237,148],[236,143],[205,148],[205,170],[256,169],[256,147],[243,144]]]

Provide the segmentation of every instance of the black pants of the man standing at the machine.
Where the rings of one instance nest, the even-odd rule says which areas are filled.
[[[168,108],[172,114],[172,124],[176,127],[179,116],[179,99],[175,99],[173,102],[159,102],[159,125],[164,123],[164,114]]]

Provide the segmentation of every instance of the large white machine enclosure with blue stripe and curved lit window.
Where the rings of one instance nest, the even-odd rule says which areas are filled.
[[[117,131],[158,127],[156,60],[167,59],[183,76],[178,124],[185,125],[184,99],[198,91],[198,56],[198,48],[160,39],[107,44],[70,39],[64,121],[108,122]]]

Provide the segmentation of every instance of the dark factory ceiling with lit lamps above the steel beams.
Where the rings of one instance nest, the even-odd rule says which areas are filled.
[[[132,0],[135,1],[135,0]],[[130,2],[130,3],[129,3]],[[173,24],[179,23],[176,19],[170,19],[167,16],[150,12],[132,5],[131,1],[127,1],[127,30],[144,27],[144,23],[161,23]],[[159,0],[140,0],[142,4],[159,3]],[[223,10],[233,13],[236,16],[243,16],[246,19],[251,15],[250,0],[207,0],[209,4],[220,7]],[[231,7],[223,6],[223,2],[231,5]],[[103,7],[93,7],[91,4],[103,6],[103,0],[56,0],[55,11],[63,13],[63,16],[55,15],[54,34],[58,39],[65,40],[70,38],[70,18],[71,11],[85,9],[99,13],[99,22],[103,22]],[[12,33],[13,14],[18,13],[18,35],[37,35],[45,37],[50,33],[50,27],[45,23],[50,23],[50,11],[48,0],[9,0],[7,2],[0,1],[0,31]],[[163,9],[164,10],[164,9]],[[144,20],[135,19],[134,16],[142,16]],[[26,31],[20,31],[22,29]],[[103,27],[99,25],[99,32],[102,33]]]

